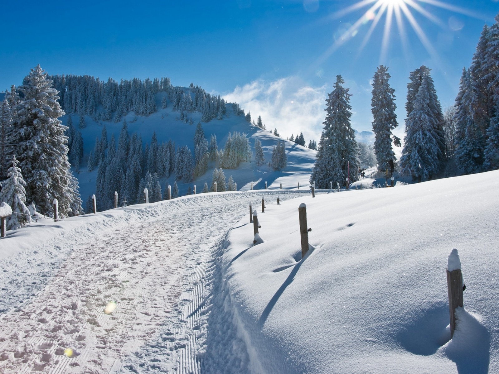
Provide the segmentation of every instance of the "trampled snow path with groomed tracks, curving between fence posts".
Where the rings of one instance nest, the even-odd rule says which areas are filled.
[[[208,318],[224,309],[217,238],[248,216],[250,195],[256,206],[256,191],[153,204],[140,219],[11,260],[0,274],[0,372],[211,372]],[[231,356],[245,360],[226,329],[213,344],[242,348]]]

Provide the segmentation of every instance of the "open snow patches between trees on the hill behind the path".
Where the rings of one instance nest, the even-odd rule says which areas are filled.
[[[187,88],[185,88],[187,90]],[[194,133],[196,130],[196,124],[201,121],[202,113],[192,112],[189,113],[190,117],[193,119],[193,124],[184,123],[179,120],[179,112],[173,111],[172,104],[168,101],[167,108],[161,109],[161,96],[157,95],[157,106],[158,111],[147,117],[145,116],[135,116],[133,112],[124,116],[127,121],[127,127],[129,134],[138,133],[142,137],[144,147],[147,143],[151,142],[153,133],[156,133],[158,142],[168,142],[172,140],[177,146],[188,146],[192,153],[194,154]],[[211,134],[215,134],[217,137],[217,142],[219,148],[223,148],[229,133],[234,134],[234,132],[246,133],[250,138],[250,145],[253,152],[253,158],[251,162],[243,163],[237,170],[224,170],[226,178],[228,179],[231,175],[234,181],[238,185],[238,190],[250,189],[251,182],[255,188],[264,187],[265,181],[267,182],[268,188],[279,187],[280,183],[284,181],[289,188],[298,186],[309,185],[310,174],[312,170],[313,163],[315,162],[316,152],[310,150],[306,147],[301,147],[294,142],[290,142],[285,139],[281,139],[272,135],[269,131],[258,129],[252,126],[245,120],[244,116],[236,116],[232,108],[232,104],[227,104],[227,114],[222,120],[213,119],[210,122],[202,122],[203,130],[205,132],[205,137],[210,140]],[[69,115],[65,115],[61,118],[63,124],[67,124]],[[79,122],[78,115],[71,115],[72,123],[75,128]],[[97,170],[88,172],[86,169],[87,159],[90,151],[93,149],[95,144],[95,139],[101,137],[102,128],[105,125],[108,138],[110,139],[112,134],[114,134],[117,140],[123,126],[123,122],[115,123],[113,121],[100,121],[95,122],[90,116],[85,116],[86,127],[83,129],[78,129],[83,138],[84,144],[84,156],[81,163],[81,168],[78,172],[73,170],[73,174],[78,179],[80,187],[80,195],[82,200],[85,202],[89,195],[95,193],[95,180],[97,176]],[[254,162],[254,140],[259,139],[262,144],[263,152],[265,155],[266,163],[260,167],[257,167]],[[283,170],[274,172],[272,168],[268,166],[272,155],[272,148],[278,141],[283,141],[286,145],[286,154],[288,166]],[[205,182],[211,185],[212,182],[212,172],[213,169],[217,167],[215,163],[210,164],[208,172],[199,178],[197,178],[192,183],[184,183],[183,181],[177,181],[180,194],[183,195],[187,192],[188,188],[193,188],[194,185],[197,186],[198,190],[203,188]],[[293,181],[286,181],[286,177],[292,174]],[[299,177],[298,177],[299,176]],[[166,182],[173,186],[175,179],[165,178],[162,179],[161,185],[164,189]],[[130,199],[130,198],[129,198]]]

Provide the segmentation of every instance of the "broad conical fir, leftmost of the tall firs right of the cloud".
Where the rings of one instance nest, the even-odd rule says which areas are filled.
[[[358,180],[358,148],[350,125],[351,94],[342,86],[344,83],[341,75],[337,75],[334,90],[326,99],[324,131],[310,178],[310,183],[315,181],[316,188],[329,188],[330,182],[346,186],[346,181]]]

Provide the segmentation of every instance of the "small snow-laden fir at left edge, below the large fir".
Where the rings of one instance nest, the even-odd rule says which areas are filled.
[[[29,209],[26,207],[26,185],[22,179],[21,170],[17,167],[19,162],[12,158],[12,166],[8,169],[8,178],[5,181],[0,200],[7,203],[12,208],[12,215],[7,217],[7,230],[12,230],[24,226],[31,222]]]

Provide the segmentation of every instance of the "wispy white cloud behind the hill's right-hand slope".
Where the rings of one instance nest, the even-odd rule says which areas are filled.
[[[325,85],[311,87],[294,76],[275,81],[258,79],[237,86],[223,97],[239,103],[255,122],[261,116],[267,130],[277,128],[283,138],[302,132],[307,145],[310,139],[319,141],[325,117]]]

